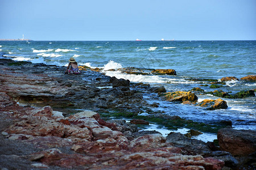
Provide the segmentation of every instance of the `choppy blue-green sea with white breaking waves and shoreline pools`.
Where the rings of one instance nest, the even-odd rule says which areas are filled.
[[[164,86],[167,92],[200,87],[206,92],[222,90],[234,94],[256,88],[255,82],[240,80],[226,82],[218,89],[200,86],[209,83],[201,79],[220,81],[225,76],[240,79],[256,75],[256,41],[0,41],[0,57],[57,66],[67,66],[68,59],[74,57],[79,65],[98,67],[106,75],[135,83]],[[148,73],[152,69],[174,69],[177,75],[131,75],[118,71],[127,67]],[[110,69],[117,71],[108,71]],[[215,111],[163,101],[154,94],[144,94],[143,97],[148,103],[159,103],[156,112],[207,124],[232,121],[234,129],[256,130],[256,97],[223,99],[228,108]],[[199,101],[219,98],[209,94],[198,97]],[[146,112],[140,114],[147,115]],[[158,130],[163,135],[171,131],[156,124],[150,124],[146,130]],[[188,130],[181,128],[177,131],[187,133]],[[195,138],[207,142],[217,137],[204,133]]]

